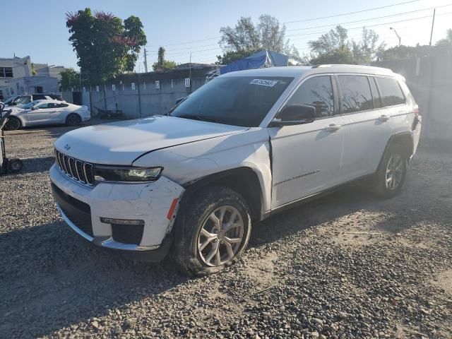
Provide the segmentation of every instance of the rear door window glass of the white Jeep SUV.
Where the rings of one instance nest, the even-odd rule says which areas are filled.
[[[338,76],[344,114],[374,108],[367,76]]]

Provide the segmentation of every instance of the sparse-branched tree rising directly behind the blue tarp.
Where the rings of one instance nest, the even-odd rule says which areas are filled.
[[[297,49],[290,45],[290,40],[285,39],[285,25],[268,14],[260,16],[257,24],[250,17],[242,17],[234,28],[222,27],[220,33],[222,36],[219,43],[223,55],[217,57],[219,64],[228,64],[262,49],[299,57]]]

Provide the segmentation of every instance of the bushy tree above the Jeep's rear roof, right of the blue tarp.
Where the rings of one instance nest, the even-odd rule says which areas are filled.
[[[374,30],[362,29],[359,42],[347,40],[347,30],[341,25],[308,42],[312,64],[363,64],[376,59],[385,43],[377,44],[379,35]]]

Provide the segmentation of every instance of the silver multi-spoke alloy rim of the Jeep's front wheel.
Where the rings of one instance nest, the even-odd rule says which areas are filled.
[[[244,237],[244,221],[237,208],[221,206],[203,222],[198,254],[208,266],[221,266],[234,258]]]

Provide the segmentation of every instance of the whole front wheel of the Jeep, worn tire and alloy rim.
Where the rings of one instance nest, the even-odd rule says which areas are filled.
[[[215,186],[196,194],[178,222],[175,261],[185,275],[219,272],[242,255],[251,233],[249,208],[232,189]]]

